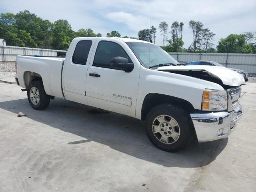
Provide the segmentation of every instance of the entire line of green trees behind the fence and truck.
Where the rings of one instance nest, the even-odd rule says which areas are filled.
[[[204,28],[204,24],[200,21],[190,20],[188,26],[192,33],[192,43],[188,48],[183,47],[184,23],[178,21],[172,22],[170,28],[166,21],[162,21],[158,28],[151,26],[150,29],[140,30],[138,38],[130,38],[155,43],[156,32],[159,29],[163,38],[163,46],[160,47],[166,52],[256,53],[256,37],[252,32],[230,34],[227,38],[220,39],[216,50],[213,48],[216,35],[214,32]],[[11,46],[67,50],[75,37],[101,36],[101,33],[96,33],[91,28],[81,28],[75,32],[67,20],[56,20],[52,23],[28,10],[20,11],[17,14],[0,14],[0,38],[6,40],[6,44]],[[113,30],[106,36],[121,37],[121,34]],[[122,37],[129,38],[128,36]]]

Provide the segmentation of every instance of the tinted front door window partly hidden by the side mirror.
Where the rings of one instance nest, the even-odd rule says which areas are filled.
[[[120,45],[110,41],[101,41],[98,44],[92,66],[112,68],[110,61],[117,56],[128,59],[129,63],[132,62]]]

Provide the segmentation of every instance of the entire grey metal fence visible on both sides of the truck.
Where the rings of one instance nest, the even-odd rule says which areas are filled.
[[[1,46],[0,61],[15,61],[17,55],[37,55],[57,56],[57,52],[64,50],[40,49],[17,46]],[[229,68],[238,68],[256,75],[256,54],[236,54],[236,53],[169,53],[178,62],[190,62],[196,60],[210,60],[218,62]]]

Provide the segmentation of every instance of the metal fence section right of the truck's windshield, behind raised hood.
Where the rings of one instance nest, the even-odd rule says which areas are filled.
[[[256,75],[256,54],[238,53],[169,53],[180,63],[208,60],[215,61],[229,68],[237,68]]]

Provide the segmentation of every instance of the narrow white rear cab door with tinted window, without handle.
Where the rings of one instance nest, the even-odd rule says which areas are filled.
[[[78,38],[71,43],[62,73],[62,87],[67,100],[87,105],[86,73],[96,40],[97,38]]]

